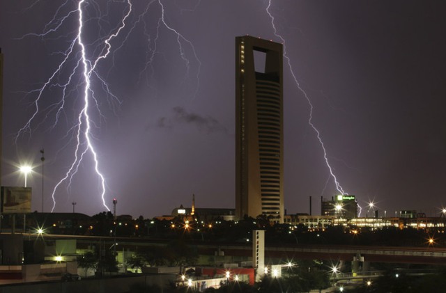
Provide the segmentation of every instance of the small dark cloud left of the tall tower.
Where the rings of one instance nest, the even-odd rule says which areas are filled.
[[[208,134],[214,132],[227,133],[226,127],[209,115],[201,116],[198,113],[190,113],[182,106],[176,106],[172,111],[174,115],[171,118],[161,117],[157,120],[157,127],[171,128],[175,125],[185,124],[194,125],[200,132],[206,132]]]

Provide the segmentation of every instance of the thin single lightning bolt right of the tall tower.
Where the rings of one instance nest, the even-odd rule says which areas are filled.
[[[314,106],[312,103],[312,100],[309,98],[309,95],[307,95],[307,92],[305,92],[305,90],[302,88],[302,86],[300,86],[300,82],[298,81],[298,78],[295,76],[293,67],[291,66],[291,60],[289,58],[289,56],[286,54],[286,42],[285,39],[282,37],[282,35],[280,35],[279,33],[277,33],[277,29],[275,26],[275,18],[272,15],[272,13],[270,12],[270,8],[271,8],[271,1],[272,0],[268,0],[268,6],[266,7],[266,13],[268,13],[270,19],[271,19],[271,26],[272,29],[274,29],[274,35],[279,38],[279,40],[282,41],[282,44],[284,46],[284,58],[286,59],[286,62],[288,63],[288,67],[290,69],[290,73],[291,76],[293,77],[293,80],[295,82],[295,85],[298,87],[298,89],[300,90],[300,92],[304,95],[305,100],[307,100],[307,103],[309,105],[309,118],[308,118],[308,124],[312,127],[312,129],[314,130],[314,132],[316,133],[316,137],[318,138],[319,144],[321,145],[321,148],[323,150],[323,158],[325,160],[325,164],[328,167],[328,170],[330,171],[330,175],[334,180],[334,184],[336,185],[336,189],[337,191],[339,191],[339,193],[341,194],[347,194],[344,189],[341,187],[341,184],[339,184],[339,181],[337,180],[336,175],[334,175],[334,171],[332,166],[330,165],[330,161],[328,161],[328,155],[327,155],[327,150],[325,149],[325,144],[323,143],[323,140],[321,138],[321,132],[319,132],[318,128],[316,127],[316,125],[314,125],[313,122],[313,110],[314,110]]]

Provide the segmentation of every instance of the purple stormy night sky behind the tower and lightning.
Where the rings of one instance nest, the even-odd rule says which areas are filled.
[[[27,183],[38,212],[40,150],[45,212],[75,160],[86,88],[78,42],[68,54],[78,33],[77,3],[0,2],[1,184],[22,186],[17,165],[32,164]],[[108,207],[116,197],[118,214],[147,218],[190,207],[192,193],[197,207],[235,206],[234,44],[248,34],[285,40],[344,191],[362,206],[374,200],[387,216],[400,209],[438,215],[446,205],[445,1],[271,0],[267,8],[268,0],[132,0],[110,54],[91,72],[89,137]],[[128,12],[127,0],[82,4],[88,66]],[[313,196],[313,214],[320,214],[321,196],[338,191],[287,63],[284,77],[285,207],[309,212]],[[79,148],[86,148],[84,136]],[[71,212],[72,202],[76,212],[105,211],[90,150],[75,166],[70,187],[66,180],[54,193],[54,212]]]

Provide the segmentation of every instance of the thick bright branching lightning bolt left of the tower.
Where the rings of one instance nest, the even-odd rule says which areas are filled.
[[[26,8],[26,10],[31,9],[37,3],[38,1],[33,3],[32,6]],[[70,3],[76,3],[75,7],[68,8]],[[95,175],[98,176],[98,189],[100,200],[102,200],[102,205],[108,211],[110,210],[105,203],[107,186],[105,176],[100,169],[98,150],[96,150],[93,143],[95,138],[93,135],[93,129],[100,127],[97,119],[99,118],[100,120],[105,120],[105,115],[100,110],[101,103],[98,100],[100,94],[97,90],[95,90],[95,88],[100,88],[100,90],[102,90],[105,95],[109,97],[109,105],[112,108],[116,104],[121,104],[121,100],[119,100],[118,97],[112,93],[106,79],[99,73],[99,67],[100,64],[104,63],[110,58],[110,56],[112,56],[112,65],[114,65],[116,52],[123,47],[125,42],[127,42],[130,34],[134,32],[134,29],[138,24],[144,23],[144,35],[148,37],[148,58],[145,70],[147,70],[148,66],[151,65],[155,58],[155,54],[157,52],[156,42],[159,37],[160,26],[162,25],[168,31],[176,35],[176,42],[178,43],[180,58],[184,62],[186,68],[186,76],[190,73],[190,64],[192,61],[187,58],[187,53],[184,46],[189,46],[190,50],[192,51],[192,55],[195,60],[194,62],[197,63],[197,84],[195,86],[194,95],[197,94],[199,89],[201,62],[199,61],[197,53],[195,52],[194,45],[192,44],[192,41],[185,38],[185,36],[177,29],[174,29],[173,26],[167,23],[164,17],[166,11],[162,1],[151,0],[144,4],[145,9],[143,9],[142,12],[137,15],[136,20],[133,23],[131,23],[130,15],[135,13],[136,9],[133,9],[132,2],[130,0],[107,1],[107,9],[109,9],[109,5],[116,3],[118,3],[118,5],[123,5],[124,8],[121,18],[118,19],[118,24],[116,24],[116,26],[112,29],[106,29],[105,25],[102,24],[106,23],[107,25],[112,25],[104,18],[108,15],[108,12],[102,14],[100,11],[100,5],[96,1],[79,0],[73,2],[66,0],[55,10],[54,16],[49,22],[47,22],[47,24],[45,24],[42,33],[28,33],[20,38],[52,38],[55,33],[59,33],[59,31],[61,31],[64,26],[68,26],[70,22],[75,23],[75,31],[64,35],[58,35],[56,37],[70,39],[67,42],[68,47],[66,47],[65,51],[56,52],[56,54],[60,54],[62,56],[61,61],[59,61],[58,65],[56,66],[56,69],[49,75],[49,78],[46,79],[43,86],[26,93],[26,95],[36,96],[32,102],[33,113],[31,114],[29,120],[26,121],[24,126],[18,130],[15,136],[15,143],[17,145],[17,141],[20,136],[23,136],[24,134],[29,134],[29,136],[31,136],[33,129],[43,125],[43,122],[52,115],[52,117],[54,117],[54,121],[49,129],[54,129],[54,127],[59,124],[59,118],[66,113],[68,100],[79,100],[78,102],[81,102],[80,109],[75,111],[73,125],[69,127],[66,135],[66,137],[69,137],[71,134],[71,139],[74,141],[73,159],[68,171],[66,171],[65,175],[63,175],[61,180],[59,180],[59,182],[57,182],[54,186],[52,191],[53,206],[51,212],[54,212],[54,209],[56,208],[56,195],[58,194],[59,189],[62,186],[66,186],[67,192],[70,193],[73,177],[78,173],[79,166],[87,155],[91,156],[93,159],[93,170]],[[156,34],[153,42],[155,44],[154,46],[151,45],[151,38],[148,31],[146,31],[146,23],[144,20],[144,17],[147,17],[149,8],[153,3],[157,3],[160,9],[160,17],[157,22]],[[91,13],[95,13],[95,16],[91,17]],[[86,24],[89,22],[95,22],[95,25],[101,34],[98,36],[98,38],[95,38],[93,42],[89,42],[88,40],[88,37],[91,38],[91,35],[87,35],[87,33],[89,33],[89,28],[86,27]],[[109,33],[105,33],[106,31],[109,31]],[[123,37],[121,37],[121,35],[123,35]],[[118,36],[120,36],[119,39]],[[54,38],[52,38],[52,40],[54,40]],[[71,67],[70,64],[72,64]],[[54,88],[61,90],[59,100],[49,104],[48,106],[42,106],[45,95],[49,90]],[[81,98],[76,96],[78,93]],[[72,99],[73,95],[75,95],[74,99]],[[35,120],[38,120],[40,116],[43,116],[43,119],[40,122],[34,122]],[[34,124],[36,124],[36,127],[31,128],[31,126]]]

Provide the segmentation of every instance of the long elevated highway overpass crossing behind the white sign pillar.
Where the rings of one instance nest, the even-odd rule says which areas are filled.
[[[24,238],[37,239],[42,235],[24,235]],[[77,248],[87,248],[92,244],[102,243],[112,246],[115,241],[119,250],[137,251],[138,248],[164,246],[170,240],[146,239],[139,237],[94,237],[79,235],[43,235],[45,241],[55,239],[76,239]],[[210,241],[191,241],[200,255],[224,255],[235,258],[251,258],[252,246],[249,243],[220,243]],[[446,248],[408,247],[408,246],[340,246],[340,245],[268,245],[265,246],[265,258],[282,260],[333,260],[351,261],[354,257],[366,262],[390,262],[410,264],[446,264]]]

